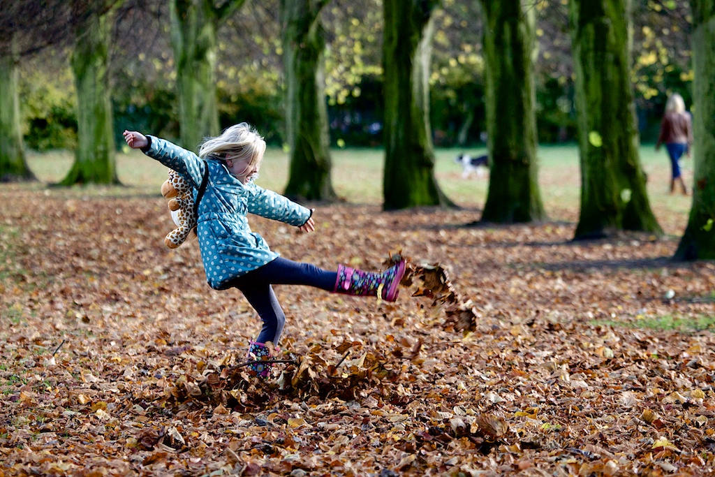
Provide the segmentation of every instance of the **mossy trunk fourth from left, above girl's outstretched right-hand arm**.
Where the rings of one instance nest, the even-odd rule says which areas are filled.
[[[327,1],[282,0],[285,115],[290,177],[285,195],[335,200],[330,180],[330,135],[325,104],[325,38],[320,10]]]

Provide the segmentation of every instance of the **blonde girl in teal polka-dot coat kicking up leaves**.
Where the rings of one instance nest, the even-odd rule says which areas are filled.
[[[204,195],[197,208],[199,250],[209,286],[215,290],[237,288],[260,315],[263,328],[250,342],[249,355],[270,360],[265,343],[278,344],[285,324],[271,285],[309,285],[347,295],[376,296],[395,301],[405,274],[400,261],[382,273],[363,272],[338,265],[337,271],[322,270],[310,263],[297,263],[272,252],[263,237],[252,232],[247,213],[295,225],[302,232],[315,230],[312,209],[288,200],[252,181],[258,174],[266,144],[245,122],[207,139],[199,155],[158,137],[124,131],[129,147],[174,169],[194,187],[194,197],[208,171]],[[270,374],[270,363],[251,365],[260,377]]]

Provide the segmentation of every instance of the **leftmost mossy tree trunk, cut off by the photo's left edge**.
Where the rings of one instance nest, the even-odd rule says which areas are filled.
[[[0,182],[35,180],[22,145],[17,77],[11,48],[0,51]]]

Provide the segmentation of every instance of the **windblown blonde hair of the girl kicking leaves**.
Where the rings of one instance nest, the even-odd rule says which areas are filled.
[[[224,129],[220,136],[206,139],[199,147],[199,157],[213,156],[222,160],[233,159],[235,162],[245,162],[246,165],[243,172],[239,174],[239,179],[251,180],[260,168],[265,151],[266,142],[255,127],[242,122]]]

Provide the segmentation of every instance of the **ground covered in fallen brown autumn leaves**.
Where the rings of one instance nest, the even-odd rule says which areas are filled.
[[[275,374],[237,367],[260,323],[168,250],[160,197],[0,190],[0,476],[660,476],[715,472],[715,264],[673,236],[571,243],[573,220],[319,207],[252,217],[274,250],[448,270],[445,307],[277,287]],[[661,211],[671,234],[684,225]],[[423,290],[424,291],[424,290]],[[448,323],[445,327],[445,323]]]

